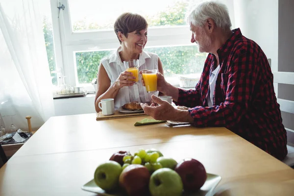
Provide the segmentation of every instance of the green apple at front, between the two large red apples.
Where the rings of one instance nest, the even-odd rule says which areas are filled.
[[[170,168],[161,168],[152,173],[149,191],[152,196],[181,196],[183,183],[177,172]]]

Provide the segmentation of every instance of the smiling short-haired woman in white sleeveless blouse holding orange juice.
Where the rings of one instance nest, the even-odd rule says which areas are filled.
[[[125,71],[123,65],[123,61],[139,59],[139,71],[157,69],[163,74],[158,55],[143,50],[147,43],[147,27],[147,21],[142,16],[132,13],[122,14],[115,22],[114,31],[121,46],[100,61],[95,98],[97,112],[101,111],[98,103],[104,98],[114,98],[116,109],[131,101],[151,101],[151,95],[145,86],[131,80],[135,79],[134,75]]]

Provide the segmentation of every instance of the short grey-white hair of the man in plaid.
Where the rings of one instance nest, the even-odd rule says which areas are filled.
[[[229,11],[225,4],[216,1],[208,1],[199,4],[187,17],[189,25],[203,26],[207,19],[212,19],[217,27],[229,30],[232,26]]]

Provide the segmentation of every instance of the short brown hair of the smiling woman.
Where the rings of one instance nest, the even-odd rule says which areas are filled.
[[[148,27],[147,21],[143,16],[139,14],[133,13],[123,13],[119,18],[116,20],[114,24],[114,32],[117,35],[120,43],[122,41],[119,38],[118,32],[121,31],[125,37],[127,37],[127,33],[133,31],[141,31]]]

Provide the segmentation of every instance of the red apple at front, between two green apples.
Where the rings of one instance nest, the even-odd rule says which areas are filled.
[[[143,165],[127,166],[120,175],[120,186],[128,196],[148,195],[150,173]]]

